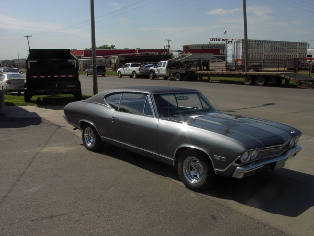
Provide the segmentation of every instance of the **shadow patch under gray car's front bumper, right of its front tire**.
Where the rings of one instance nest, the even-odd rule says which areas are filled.
[[[283,168],[244,179],[219,177],[214,187],[203,194],[297,217],[314,206],[314,176]]]

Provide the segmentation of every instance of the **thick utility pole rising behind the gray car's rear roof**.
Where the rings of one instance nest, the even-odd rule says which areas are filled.
[[[95,17],[94,17],[94,0],[90,0],[90,22],[92,32],[92,60],[93,60],[93,91],[94,95],[98,93],[97,85],[97,68],[96,68],[96,40],[95,40]]]

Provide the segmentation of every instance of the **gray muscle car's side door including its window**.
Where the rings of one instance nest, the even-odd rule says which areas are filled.
[[[111,137],[116,145],[159,159],[158,119],[148,94],[123,93],[112,115]]]

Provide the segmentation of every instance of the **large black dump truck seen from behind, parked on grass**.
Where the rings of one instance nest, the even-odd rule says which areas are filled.
[[[81,100],[78,59],[70,49],[29,49],[24,100],[33,95],[73,94]]]

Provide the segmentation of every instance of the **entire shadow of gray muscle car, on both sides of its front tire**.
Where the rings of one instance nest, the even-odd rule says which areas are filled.
[[[172,166],[131,151],[109,145],[101,154],[181,182]],[[314,206],[314,176],[285,168],[277,172],[258,172],[243,179],[219,176],[213,187],[200,194],[232,200],[272,214],[297,217]]]

